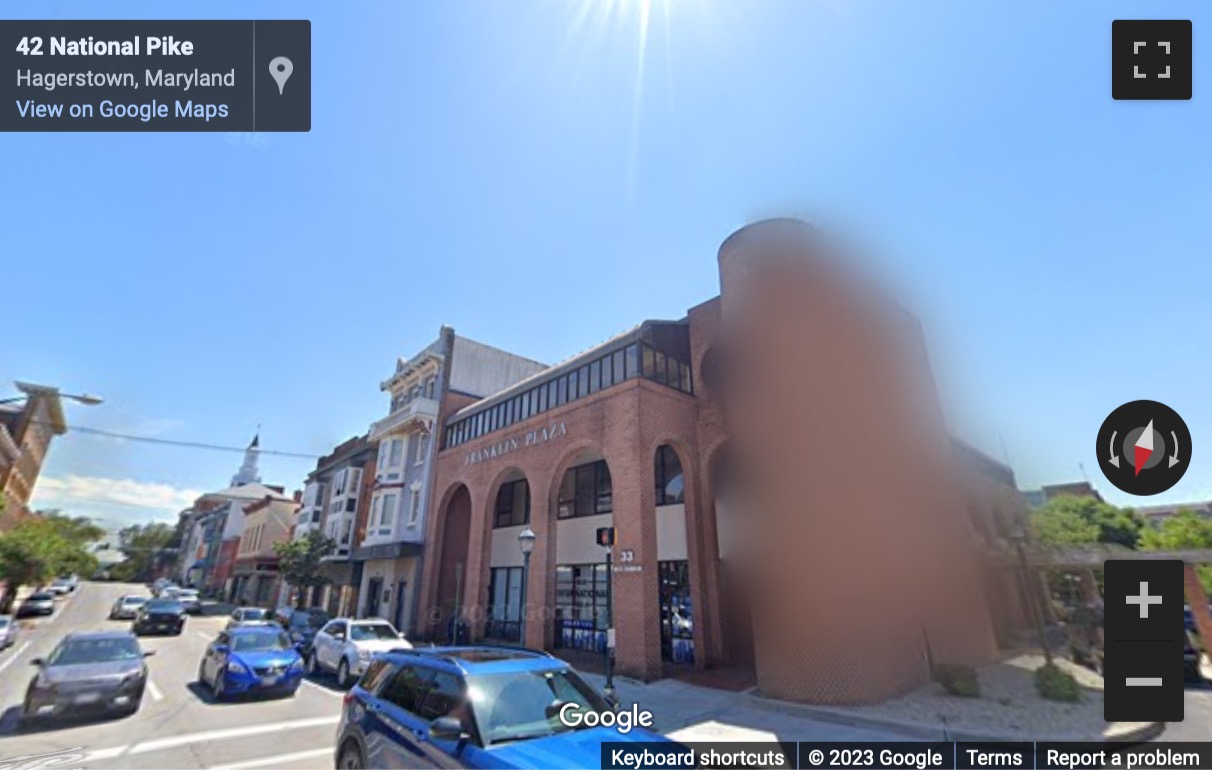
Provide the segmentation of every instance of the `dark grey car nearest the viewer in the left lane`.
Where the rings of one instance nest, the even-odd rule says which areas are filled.
[[[39,667],[22,706],[22,720],[79,713],[133,714],[143,701],[152,652],[126,631],[68,634]]]

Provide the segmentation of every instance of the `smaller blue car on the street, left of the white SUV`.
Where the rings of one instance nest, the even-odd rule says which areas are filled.
[[[206,648],[198,681],[216,701],[247,694],[292,696],[303,683],[303,657],[276,626],[238,626]]]

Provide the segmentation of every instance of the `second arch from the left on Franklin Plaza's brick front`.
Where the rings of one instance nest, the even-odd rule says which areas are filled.
[[[488,604],[484,635],[520,644],[524,557],[518,536],[531,523],[531,494],[526,475],[516,468],[498,480],[488,512]]]

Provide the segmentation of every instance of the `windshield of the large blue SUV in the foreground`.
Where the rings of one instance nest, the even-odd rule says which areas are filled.
[[[570,669],[470,677],[468,698],[486,745],[572,730],[560,721],[559,709],[565,703],[576,703],[582,712],[610,711],[610,705]]]

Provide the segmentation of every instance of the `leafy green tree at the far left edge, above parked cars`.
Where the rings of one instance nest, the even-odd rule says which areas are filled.
[[[7,612],[22,586],[39,586],[58,575],[92,575],[97,558],[88,544],[102,530],[87,519],[57,512],[34,514],[0,534],[0,580],[8,583]]]

